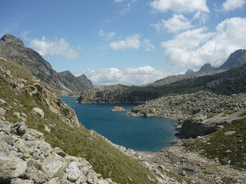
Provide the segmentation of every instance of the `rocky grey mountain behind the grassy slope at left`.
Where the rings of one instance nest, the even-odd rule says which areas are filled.
[[[88,80],[72,79],[75,78],[71,76],[72,74],[69,77],[61,77],[38,52],[25,47],[24,43],[13,35],[6,34],[0,39],[0,54],[26,68],[32,75],[49,84],[60,95],[80,93],[92,87]],[[77,83],[72,84],[67,79],[77,81]],[[87,86],[87,84],[89,85]]]

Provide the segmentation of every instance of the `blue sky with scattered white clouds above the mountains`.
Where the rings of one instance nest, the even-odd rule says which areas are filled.
[[[246,49],[246,0],[1,0],[12,34],[57,72],[142,85]]]

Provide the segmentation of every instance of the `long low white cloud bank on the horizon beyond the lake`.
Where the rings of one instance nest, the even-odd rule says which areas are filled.
[[[87,69],[82,71],[92,82],[96,85],[141,85],[149,84],[158,79],[166,77],[168,74],[156,70],[150,66],[143,66],[139,68],[107,68],[92,70]],[[79,76],[81,74],[77,74]]]

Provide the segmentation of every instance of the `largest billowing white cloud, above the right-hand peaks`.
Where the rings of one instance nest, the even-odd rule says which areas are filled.
[[[188,30],[163,42],[165,61],[176,71],[199,69],[205,63],[218,67],[237,49],[246,48],[246,18],[226,19],[215,32],[206,27]],[[188,41],[187,41],[188,40]]]

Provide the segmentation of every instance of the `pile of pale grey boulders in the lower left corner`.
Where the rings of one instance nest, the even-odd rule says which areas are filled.
[[[92,183],[104,180],[85,159],[51,148],[41,132],[24,122],[0,120],[0,183]]]

